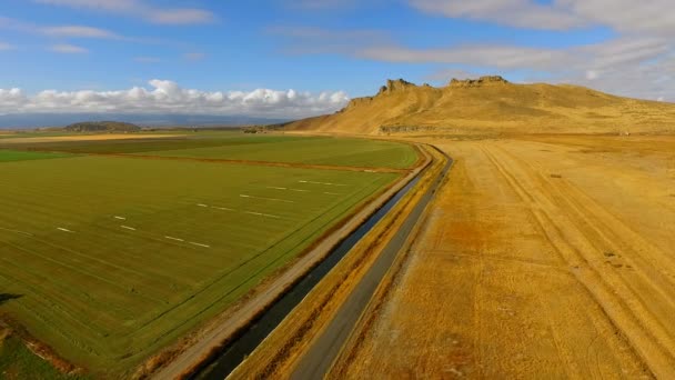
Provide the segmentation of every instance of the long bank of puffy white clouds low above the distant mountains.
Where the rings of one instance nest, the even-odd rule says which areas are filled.
[[[174,113],[245,114],[300,118],[333,112],[349,101],[346,93],[294,90],[200,91],[169,80],[151,80],[150,89],[120,91],[46,90],[27,96],[20,89],[0,89],[0,113]]]

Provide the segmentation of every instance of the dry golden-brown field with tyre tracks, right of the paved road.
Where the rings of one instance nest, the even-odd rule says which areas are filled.
[[[450,183],[332,377],[675,378],[675,139],[540,140],[436,143]]]

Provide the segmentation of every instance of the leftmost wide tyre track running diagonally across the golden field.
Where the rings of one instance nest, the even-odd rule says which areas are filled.
[[[563,192],[541,173],[533,177],[535,169],[505,153],[502,148],[483,146],[481,149],[504,174],[514,191],[522,199],[530,199],[537,206],[533,213],[548,241],[574,268],[573,272],[578,282],[601,306],[614,323],[616,332],[627,337],[655,376],[675,377],[675,351],[669,331],[664,329],[661,320],[654,317],[643,302],[636,301],[641,298],[623,278],[601,267],[604,262],[601,264],[602,260],[593,257],[592,252],[602,252],[603,243],[611,242],[611,239],[603,238],[602,233],[597,236],[596,228],[582,229],[590,224],[593,227],[587,220],[593,212],[581,207],[572,196],[573,192]],[[507,172],[506,168],[511,169],[511,172]],[[570,183],[566,186],[571,187]],[[604,226],[603,221],[600,219],[595,226]],[[596,236],[590,232],[595,232]]]

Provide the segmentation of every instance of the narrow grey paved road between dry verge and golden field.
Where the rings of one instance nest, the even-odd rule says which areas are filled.
[[[377,286],[393,264],[396,254],[405,243],[405,240],[407,240],[407,237],[422,217],[424,209],[433,199],[436,189],[447,174],[447,171],[452,166],[452,160],[447,156],[446,158],[447,163],[436,181],[427,189],[422,199],[420,199],[413,211],[403,222],[403,226],[401,226],[401,229],[399,229],[396,234],[386,244],[375,263],[373,263],[373,267],[338,310],[326,329],[316,338],[308,352],[302,357],[295,371],[291,374],[291,379],[321,379],[330,369],[354,329],[359,318],[375,293]]]

